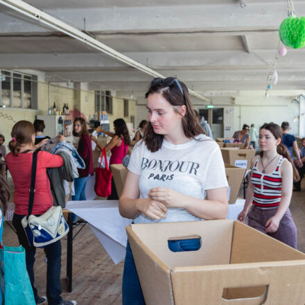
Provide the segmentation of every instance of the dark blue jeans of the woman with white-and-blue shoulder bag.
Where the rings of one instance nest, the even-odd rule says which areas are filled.
[[[30,247],[28,245],[28,238],[24,232],[24,228],[21,225],[23,215],[14,214],[12,218],[12,225],[14,225],[19,243],[26,249],[26,270],[28,270],[28,277],[30,278],[30,284],[33,288],[35,302],[39,299],[37,295],[37,288],[34,286],[34,263],[36,247]],[[46,267],[46,297],[48,298],[49,305],[58,305],[62,302],[62,287],[60,285],[60,268],[61,268],[61,256],[62,256],[62,244],[60,241],[51,243],[44,248],[46,254],[47,267]]]

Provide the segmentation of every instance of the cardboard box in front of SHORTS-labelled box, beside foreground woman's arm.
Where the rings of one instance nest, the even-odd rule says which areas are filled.
[[[225,174],[227,175],[227,183],[230,187],[229,203],[236,202],[238,191],[241,188],[241,184],[243,183],[245,171],[245,168],[225,164]]]

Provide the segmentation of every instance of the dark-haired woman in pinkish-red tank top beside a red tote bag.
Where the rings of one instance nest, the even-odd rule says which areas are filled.
[[[122,164],[123,157],[127,155],[128,146],[130,145],[130,135],[127,125],[123,119],[116,119],[113,122],[114,132],[101,129],[108,136],[112,137],[111,141],[105,146],[106,152],[111,151],[110,164]],[[116,186],[112,177],[111,180],[111,195],[107,198],[109,200],[119,199],[116,193]]]

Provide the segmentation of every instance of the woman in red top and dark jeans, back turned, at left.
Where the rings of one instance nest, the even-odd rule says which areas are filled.
[[[44,145],[41,141],[37,146],[35,143],[35,128],[28,121],[19,121],[12,128],[12,141],[9,143],[10,153],[6,155],[6,162],[12,175],[15,186],[14,203],[15,214],[12,219],[19,243],[26,249],[26,269],[30,277],[36,304],[45,304],[46,297],[38,297],[37,289],[34,286],[34,261],[35,247],[28,245],[28,239],[21,225],[21,220],[28,215],[28,197],[30,189],[30,176],[32,168],[33,151]],[[63,141],[64,137],[60,137]],[[46,141],[48,141],[46,139]],[[33,214],[40,216],[53,205],[50,182],[46,175],[46,168],[60,167],[63,165],[62,157],[40,151],[37,155],[37,171],[35,182],[35,198],[33,202]],[[75,301],[67,302],[60,294],[60,267],[62,246],[59,241],[51,243],[44,248],[47,262],[46,272],[46,295],[49,305],[73,305]]]

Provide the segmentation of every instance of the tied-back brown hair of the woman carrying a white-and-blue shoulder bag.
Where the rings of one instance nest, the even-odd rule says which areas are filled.
[[[29,121],[19,121],[12,127],[12,141],[8,143],[8,147],[13,155],[17,155],[20,151],[21,144],[33,143],[32,136],[35,134],[35,128]]]

